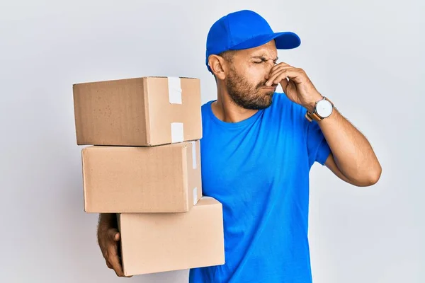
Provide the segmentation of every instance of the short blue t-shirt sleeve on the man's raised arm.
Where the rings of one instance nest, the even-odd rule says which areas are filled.
[[[307,153],[310,167],[315,161],[324,165],[331,153],[322,129],[320,129],[316,121],[309,122],[307,125]]]

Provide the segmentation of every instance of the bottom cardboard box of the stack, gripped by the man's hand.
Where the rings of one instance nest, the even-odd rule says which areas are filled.
[[[202,197],[188,213],[118,214],[125,276],[223,265],[222,204]]]

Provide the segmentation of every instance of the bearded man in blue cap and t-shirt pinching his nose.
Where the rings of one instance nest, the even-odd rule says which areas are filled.
[[[196,268],[190,282],[312,282],[307,240],[309,172],[314,162],[356,186],[378,182],[367,139],[324,98],[305,71],[278,63],[300,45],[273,33],[253,11],[220,18],[208,33],[206,64],[217,100],[202,107],[203,194],[223,204],[225,265]],[[276,93],[276,86],[283,93]],[[98,238],[122,276],[119,233],[103,214]]]

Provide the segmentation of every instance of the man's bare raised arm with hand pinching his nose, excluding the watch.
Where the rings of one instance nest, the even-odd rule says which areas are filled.
[[[281,62],[266,76],[266,86],[280,83],[286,96],[313,112],[323,96],[314,87],[305,71]],[[378,182],[381,166],[368,140],[334,108],[332,114],[319,121],[331,153],[325,165],[337,176],[357,186]]]

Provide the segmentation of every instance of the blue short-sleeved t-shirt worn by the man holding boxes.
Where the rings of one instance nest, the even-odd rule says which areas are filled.
[[[222,203],[226,262],[190,270],[189,282],[312,282],[309,172],[331,152],[321,129],[285,93],[236,123],[211,103],[202,106],[203,195]]]

